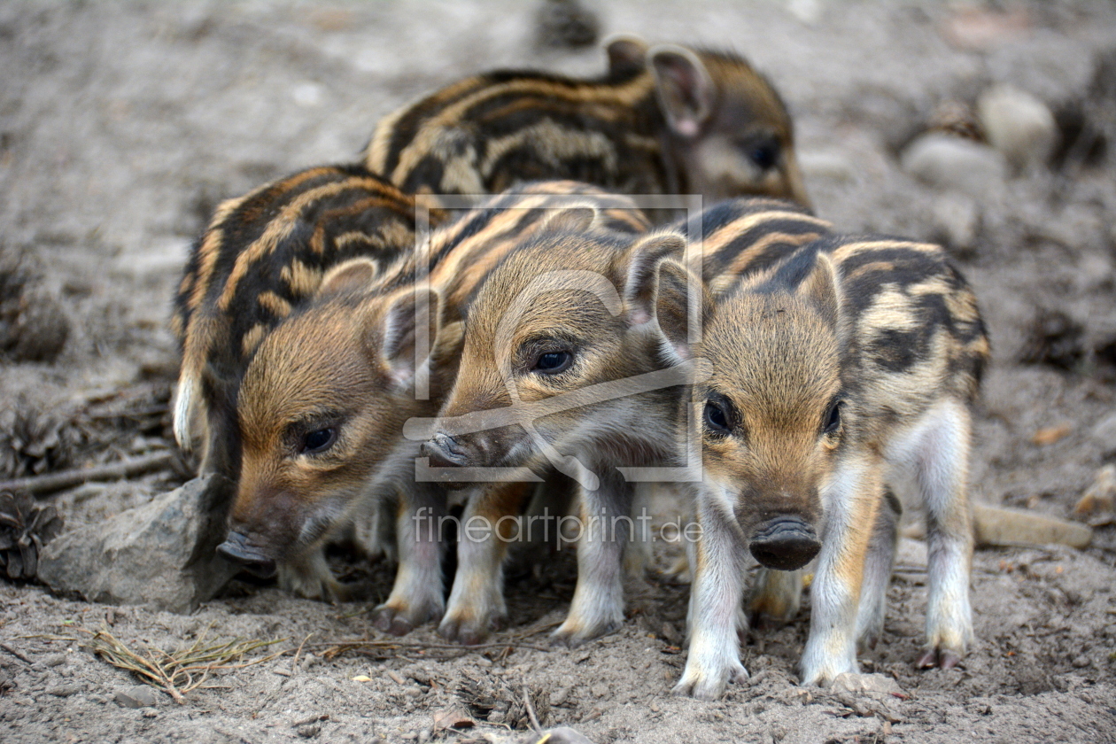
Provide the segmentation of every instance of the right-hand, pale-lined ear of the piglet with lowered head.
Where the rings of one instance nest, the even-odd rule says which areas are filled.
[[[442,296],[432,287],[408,287],[391,298],[369,332],[379,360],[400,384],[410,383],[426,364],[442,326]],[[375,348],[375,344],[373,348]]]

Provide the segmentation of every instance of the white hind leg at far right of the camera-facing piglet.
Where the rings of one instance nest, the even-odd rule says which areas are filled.
[[[972,642],[969,576],[973,523],[969,504],[969,452],[972,422],[958,400],[935,406],[920,427],[915,476],[926,508],[930,592],[926,645],[918,666],[955,666]]]

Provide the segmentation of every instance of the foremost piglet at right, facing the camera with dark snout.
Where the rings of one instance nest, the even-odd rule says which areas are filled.
[[[761,251],[719,278],[692,349],[712,376],[693,389],[705,419],[694,489],[702,537],[675,692],[716,697],[747,676],[738,612],[749,550],[782,570],[820,550],[801,682],[857,671],[858,641],[874,644],[883,629],[898,518],[888,486],[913,485],[926,510],[920,665],[949,668],[972,639],[965,480],[989,358],[975,298],[927,243],[828,235],[750,271],[768,258]],[[778,583],[764,602],[792,615],[800,581]]]

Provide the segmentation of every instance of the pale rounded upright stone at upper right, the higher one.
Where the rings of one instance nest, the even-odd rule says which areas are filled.
[[[1050,108],[1012,85],[997,85],[982,93],[977,114],[989,143],[1016,168],[1045,165],[1058,144],[1058,125]]]

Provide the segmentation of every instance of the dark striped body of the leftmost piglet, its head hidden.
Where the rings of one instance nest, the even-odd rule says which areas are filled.
[[[330,267],[357,255],[392,262],[413,250],[414,233],[415,200],[360,166],[309,168],[218,207],[194,244],[171,320],[182,351],[175,437],[186,450],[202,438],[203,470],[230,455],[214,451],[228,444],[218,445],[221,419],[271,328]]]

